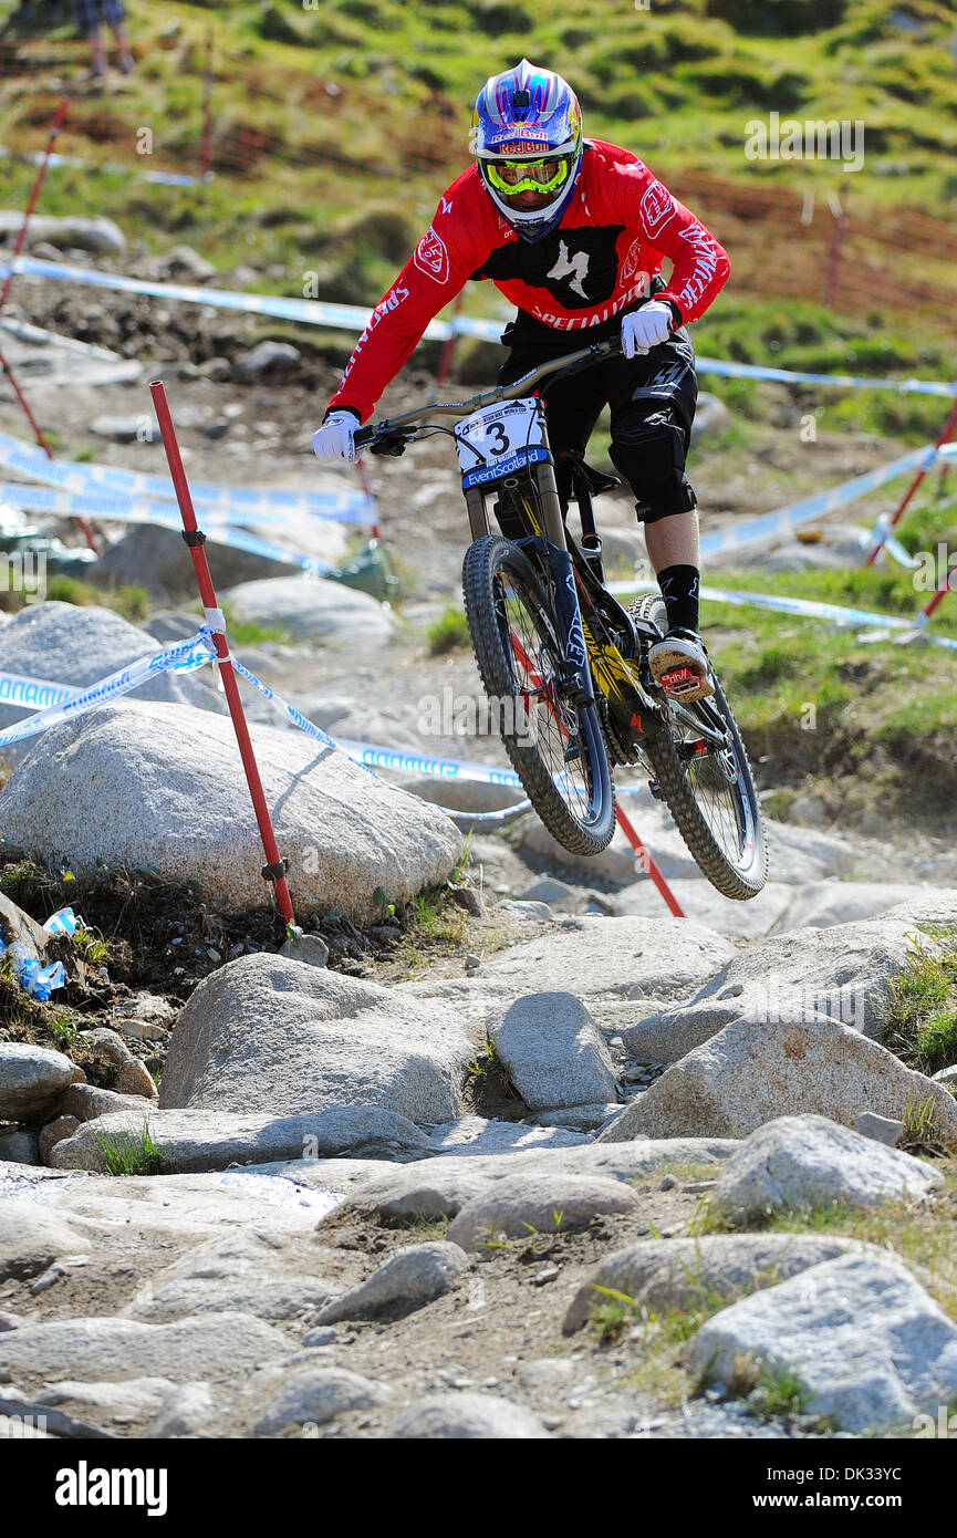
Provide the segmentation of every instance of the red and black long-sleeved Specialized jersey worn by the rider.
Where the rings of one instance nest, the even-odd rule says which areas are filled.
[[[329,409],[351,406],[366,421],[429,320],[469,278],[491,278],[555,331],[586,331],[642,298],[663,257],[674,272],[655,298],[672,300],[683,321],[697,320],[728,281],[728,254],[628,149],[585,141],[562,220],[534,245],[503,218],[471,165],[442,194],[428,232],[372,311]]]

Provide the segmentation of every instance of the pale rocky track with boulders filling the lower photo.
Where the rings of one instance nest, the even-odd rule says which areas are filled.
[[[143,332],[140,301],[80,323],[48,288],[23,311],[86,351],[11,337],[65,457],[163,472],[149,371],[197,481],[354,484],[308,457],[325,358],[152,301]],[[0,426],[23,435],[6,401]],[[372,468],[398,606],[209,558],[235,655],[334,738],[502,764],[442,638],[446,449]],[[835,437],[831,474],[877,449]],[[715,526],[757,509],[745,481]],[[602,526],[640,560],[623,498]],[[83,601],[3,615],[0,674],[88,684],[195,631],[178,537],[100,532]],[[822,564],[846,540],[826,526]],[[245,700],[291,937],[211,669],[6,754],[2,938],[65,984],[37,1003],[0,964],[2,1435],[900,1436],[957,1400],[951,841],[906,807],[849,827],[811,784],[768,820],[765,892],[729,903],[620,775],[672,918],[622,834],[575,860],[519,792],[371,775]],[[66,904],[72,938],[43,927]]]

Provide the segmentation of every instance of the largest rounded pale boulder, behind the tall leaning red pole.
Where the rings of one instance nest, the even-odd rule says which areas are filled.
[[[445,880],[462,838],[440,812],[300,732],[251,737],[297,917],[369,921],[380,886],[408,901]],[[3,792],[0,832],[54,867],[69,855],[77,875],[152,866],[232,909],[269,897],[232,723],[188,706],[120,701],[45,732]]]

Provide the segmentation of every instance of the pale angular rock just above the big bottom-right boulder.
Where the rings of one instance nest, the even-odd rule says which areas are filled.
[[[943,1177],[826,1117],[780,1117],[759,1127],[722,1169],[711,1212],[743,1227],[788,1207],[923,1201]]]

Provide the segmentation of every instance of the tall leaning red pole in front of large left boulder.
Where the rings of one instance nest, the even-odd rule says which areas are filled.
[[[223,621],[215,601],[215,589],[212,586],[212,577],[209,575],[209,561],[206,560],[206,551],[203,549],[206,535],[202,532],[202,529],[198,529],[195,521],[195,512],[192,509],[192,497],[189,495],[186,472],[183,471],[183,460],[180,458],[180,446],[175,438],[175,428],[172,426],[172,417],[169,415],[169,404],[166,401],[166,391],[163,389],[163,381],[154,380],[152,384],[149,386],[149,394],[152,395],[157,421],[160,423],[160,432],[163,434],[163,448],[166,449],[169,474],[172,477],[175,498],[180,504],[180,515],[183,518],[183,540],[189,546],[189,555],[192,557],[192,566],[200,589],[200,598],[203,601],[206,621],[208,623],[214,621],[222,624]],[[269,817],[269,807],[266,806],[266,795],[263,791],[262,780],[258,777],[258,767],[255,764],[255,754],[252,752],[252,743],[249,740],[249,727],[246,726],[243,701],[240,698],[238,684],[235,681],[235,674],[232,671],[232,660],[229,657],[229,647],[226,646],[226,635],[222,629],[214,631],[212,643],[215,646],[215,654],[218,657],[220,678],[223,680],[223,689],[226,692],[226,703],[229,704],[229,715],[232,717],[235,740],[238,743],[240,757],[243,760],[243,769],[246,771],[246,784],[249,786],[249,795],[252,797],[252,809],[255,812],[255,821],[258,824],[260,838],[263,841],[263,851],[266,854],[266,864],[263,866],[263,878],[272,883],[272,887],[275,891],[275,903],[286,924],[294,924],[295,915],[292,912],[292,900],[289,897],[289,887],[286,886],[288,861],[280,858],[278,847],[275,843],[275,834],[272,831],[272,818]]]

